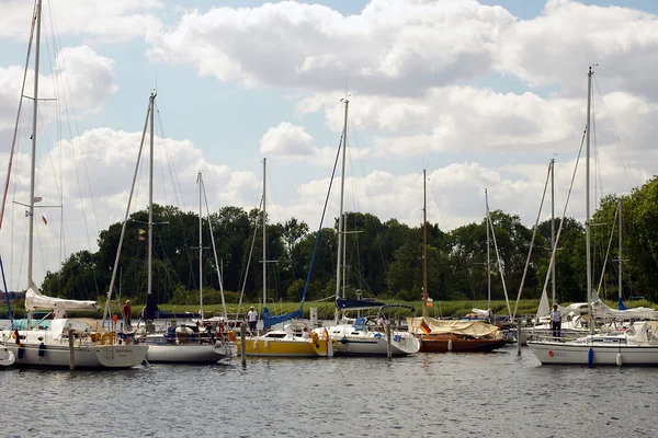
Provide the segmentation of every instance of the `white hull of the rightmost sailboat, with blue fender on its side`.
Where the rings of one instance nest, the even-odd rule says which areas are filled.
[[[658,366],[658,345],[531,341],[527,346],[542,365]]]

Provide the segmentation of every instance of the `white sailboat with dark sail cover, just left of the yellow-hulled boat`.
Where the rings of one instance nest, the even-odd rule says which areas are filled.
[[[154,141],[155,141],[155,132],[154,132],[154,114],[155,114],[155,102],[156,102],[156,93],[151,93],[149,97],[149,105],[147,111],[147,120],[150,125],[150,160],[149,160],[149,204],[148,204],[148,224],[147,224],[147,234],[148,234],[148,262],[147,262],[147,304],[152,303],[152,251],[154,251]],[[144,129],[144,134],[141,136],[143,141],[146,136],[146,126]],[[143,146],[143,145],[141,145]],[[140,152],[143,148],[139,148]],[[137,160],[137,166],[139,165],[139,159]],[[135,177],[137,173],[135,173]],[[201,174],[198,175],[198,197],[200,197],[200,264],[201,260],[201,249],[203,247],[203,242],[201,241],[202,230],[202,193],[203,193],[203,180],[201,178]],[[128,212],[131,209],[132,195],[135,188],[135,180],[133,181],[133,188],[131,191],[131,197],[128,199],[128,206],[126,208],[126,216],[124,219],[124,223],[122,227],[122,234],[120,239],[120,246],[116,251],[116,258],[114,262],[113,276],[110,281],[110,289],[107,291],[107,303],[110,302],[110,296],[112,293],[112,286],[114,284],[114,275],[118,270],[118,258],[121,254],[121,245],[123,242],[123,237],[125,234],[125,229],[128,219]],[[200,268],[201,270],[201,268]],[[200,287],[201,287],[201,278],[200,278]],[[201,308],[203,309],[203,295],[200,289],[200,301]],[[202,310],[203,312],[203,310]],[[146,313],[146,312],[145,312]],[[147,316],[148,318],[148,316]],[[203,318],[203,315],[202,315]],[[222,359],[227,357],[231,357],[236,353],[235,344],[230,343],[228,339],[224,339],[217,337],[215,333],[213,333],[209,328],[206,331],[201,330],[201,324],[170,324],[167,327],[166,332],[156,333],[154,330],[154,325],[151,322],[147,321],[146,326],[143,326],[136,332],[128,333],[128,336],[134,336],[139,344],[148,346],[148,354],[146,355],[146,360],[149,362],[168,362],[168,364],[215,364]]]

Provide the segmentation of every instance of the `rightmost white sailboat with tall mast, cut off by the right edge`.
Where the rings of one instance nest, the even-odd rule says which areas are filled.
[[[590,131],[592,67],[587,76],[587,131],[586,131],[586,203],[585,232],[587,258],[587,290],[589,315],[600,313],[601,308],[609,314],[629,314],[626,310],[612,311],[601,306],[598,293],[592,288],[591,243],[590,243]],[[553,254],[551,263],[554,263]],[[620,257],[621,258],[621,257]],[[639,314],[639,312],[637,312]],[[527,346],[542,365],[616,365],[658,366],[658,321],[637,321],[625,331],[594,333],[594,318],[589,324],[590,334],[575,341],[538,339],[529,341]]]

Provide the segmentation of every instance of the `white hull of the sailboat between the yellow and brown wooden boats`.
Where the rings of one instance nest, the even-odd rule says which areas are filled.
[[[316,328],[321,333],[324,328]],[[388,339],[384,332],[355,331],[352,325],[327,327],[336,356],[387,356]],[[393,356],[418,353],[420,341],[407,332],[393,332],[390,350]]]

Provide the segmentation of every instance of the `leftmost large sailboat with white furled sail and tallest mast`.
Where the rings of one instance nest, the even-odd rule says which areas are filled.
[[[34,261],[34,210],[35,203],[35,157],[38,105],[38,68],[41,39],[42,1],[37,0],[33,20],[36,28],[34,60],[34,95],[32,116],[32,160],[30,177],[30,201],[26,217],[30,221],[27,243],[27,290],[25,291],[24,324],[12,320],[13,327],[3,330],[0,362],[19,367],[43,368],[131,368],[143,362],[148,347],[123,343],[114,332],[106,332],[91,318],[66,318],[66,311],[97,311],[95,301],[68,300],[44,296],[33,279]],[[32,38],[31,38],[32,39]],[[13,147],[12,147],[13,148]],[[11,169],[11,163],[10,163]],[[9,174],[8,174],[9,178]],[[4,194],[4,199],[7,193]],[[4,205],[3,199],[3,205]],[[34,321],[34,311],[48,311],[46,316]],[[55,313],[55,319],[46,320]],[[57,318],[61,316],[61,318]]]

